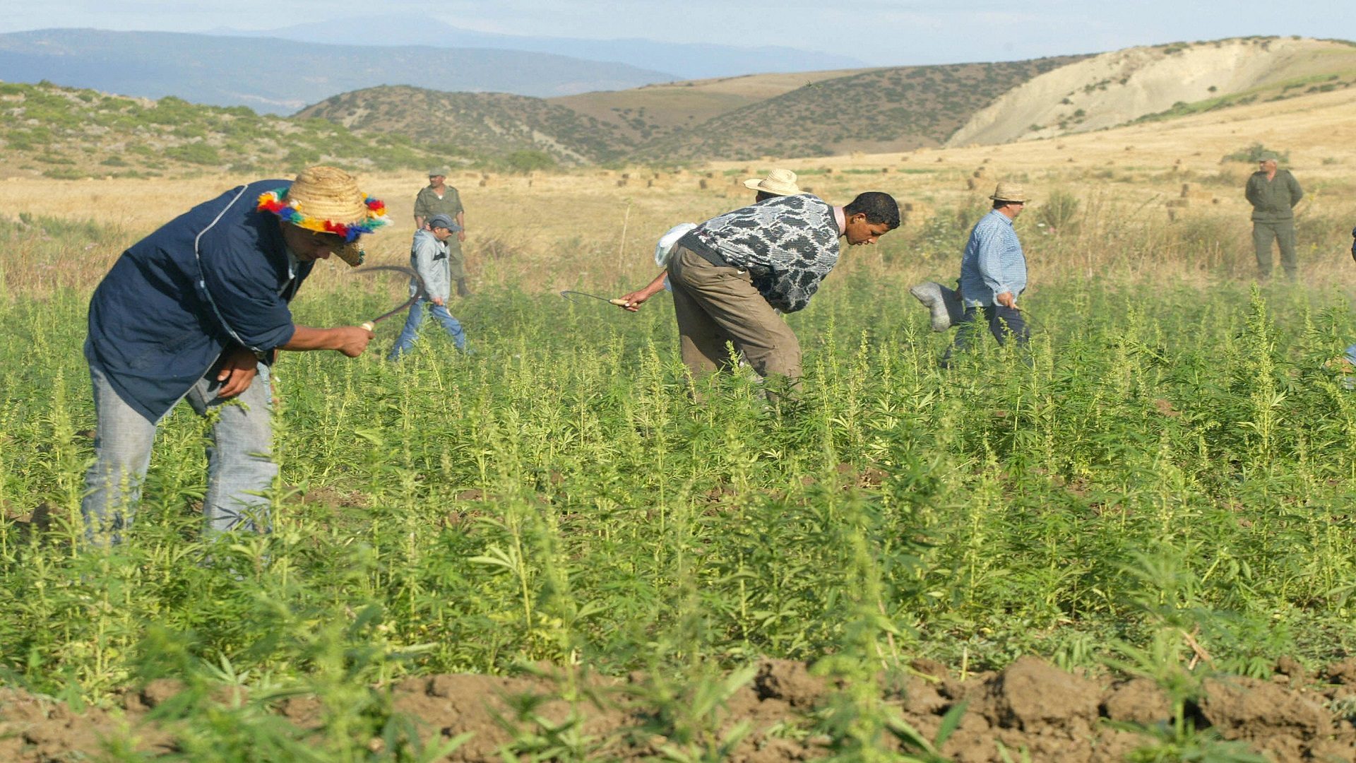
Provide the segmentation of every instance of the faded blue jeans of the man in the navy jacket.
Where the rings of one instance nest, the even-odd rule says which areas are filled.
[[[228,529],[268,532],[268,500],[258,496],[273,486],[278,464],[273,448],[273,394],[270,371],[259,364],[250,388],[222,401],[217,398],[216,367],[184,395],[199,415],[216,413],[207,445],[207,494],[202,501],[203,535]],[[141,482],[151,463],[151,445],[159,421],[148,421],[132,409],[103,372],[89,369],[94,383],[95,463],[85,472],[80,504],[85,538],[98,544],[119,543],[132,527]]]

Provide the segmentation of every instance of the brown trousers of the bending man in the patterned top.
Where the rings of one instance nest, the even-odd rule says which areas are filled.
[[[800,341],[754,288],[747,270],[720,267],[683,247],[669,261],[682,361],[693,376],[732,365],[725,342],[759,376],[800,379]]]

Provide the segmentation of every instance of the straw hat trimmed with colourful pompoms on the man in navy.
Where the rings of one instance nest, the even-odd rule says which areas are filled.
[[[342,236],[334,253],[354,266],[363,259],[358,236],[391,223],[386,205],[358,190],[358,181],[338,167],[306,167],[292,186],[262,194],[259,209],[298,228]]]

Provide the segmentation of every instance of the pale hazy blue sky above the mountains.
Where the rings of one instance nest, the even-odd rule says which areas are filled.
[[[880,65],[1031,58],[1250,34],[1356,38],[1353,0],[54,0],[4,14],[0,31],[258,30],[374,10],[504,34],[785,45]]]

